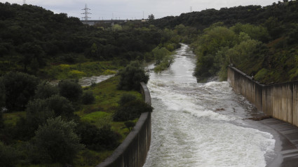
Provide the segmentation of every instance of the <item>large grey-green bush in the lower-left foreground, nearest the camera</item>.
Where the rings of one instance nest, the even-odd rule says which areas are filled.
[[[72,163],[83,148],[79,136],[74,133],[75,126],[74,121],[63,121],[59,116],[39,127],[32,141],[42,163]]]

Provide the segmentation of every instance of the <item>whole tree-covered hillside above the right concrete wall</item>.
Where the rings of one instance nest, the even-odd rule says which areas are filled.
[[[174,28],[178,25],[196,28],[198,36],[192,37],[188,42],[198,55],[195,72],[198,81],[222,75],[225,73],[222,69],[226,69],[226,65],[231,63],[246,74],[255,76],[261,83],[298,79],[297,1],[279,1],[277,4],[264,7],[238,6],[183,13],[177,17],[155,20],[154,25],[160,28]],[[220,31],[229,32],[233,37],[224,39],[229,36],[221,34]],[[255,40],[257,45],[254,47],[257,49],[247,46],[252,50],[246,53],[240,51],[241,32],[248,34],[251,40]],[[206,40],[216,41],[216,44],[208,43]],[[226,40],[229,44],[224,42]],[[205,46],[208,48],[204,48]],[[237,55],[241,60],[231,59]],[[222,76],[222,79],[225,79],[225,76]]]

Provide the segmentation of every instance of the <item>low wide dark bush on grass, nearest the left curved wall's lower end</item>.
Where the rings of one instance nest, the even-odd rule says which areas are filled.
[[[102,126],[97,128],[89,123],[79,123],[76,128],[76,133],[81,136],[81,143],[86,145],[88,149],[104,150],[114,149],[118,146],[118,139],[121,136],[114,131],[111,131],[111,126]]]

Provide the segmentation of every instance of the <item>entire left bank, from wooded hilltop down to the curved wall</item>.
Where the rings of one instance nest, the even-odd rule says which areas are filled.
[[[148,22],[89,26],[0,3],[1,166],[96,166],[152,111],[138,92],[149,79],[141,62],[168,68],[179,42]],[[77,82],[117,70],[101,83]]]

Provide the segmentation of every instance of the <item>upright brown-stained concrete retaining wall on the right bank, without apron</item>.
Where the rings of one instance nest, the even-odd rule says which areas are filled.
[[[262,85],[235,67],[228,67],[228,81],[259,111],[298,126],[298,81]]]

